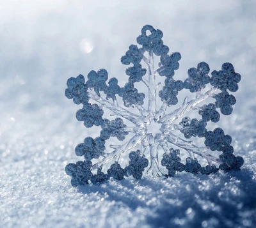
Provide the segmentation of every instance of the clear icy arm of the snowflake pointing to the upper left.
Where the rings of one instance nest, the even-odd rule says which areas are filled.
[[[108,100],[105,100],[105,99],[101,98],[100,96],[93,95],[92,93],[89,93],[89,92],[87,92],[87,95],[92,100],[95,100],[96,102],[99,102],[101,105],[103,105],[103,107],[111,110],[112,112],[114,112],[118,116],[122,116],[123,118],[128,119],[129,121],[131,121],[134,124],[140,118],[140,116],[138,116],[136,114],[133,114],[132,112],[129,112],[129,110],[126,110],[126,109],[118,106],[117,104],[110,103],[110,102],[108,102]]]

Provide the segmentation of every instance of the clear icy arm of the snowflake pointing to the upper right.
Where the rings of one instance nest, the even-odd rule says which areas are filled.
[[[178,108],[173,110],[170,114],[163,116],[160,118],[158,123],[169,122],[172,123],[175,119],[178,119],[180,116],[188,112],[189,110],[193,109],[198,103],[204,101],[206,98],[212,95],[218,88],[213,87],[209,91],[205,92],[204,94],[194,98],[188,102],[188,97],[185,98],[183,104]]]

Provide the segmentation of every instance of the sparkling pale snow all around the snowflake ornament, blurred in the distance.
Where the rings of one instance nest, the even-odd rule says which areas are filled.
[[[256,227],[256,2],[159,2],[0,1],[1,227]],[[182,54],[175,79],[200,61],[241,73],[234,112],[218,124],[244,165],[72,188],[65,165],[99,131],[76,121],[66,81],[106,68],[127,82],[120,57],[145,24]]]

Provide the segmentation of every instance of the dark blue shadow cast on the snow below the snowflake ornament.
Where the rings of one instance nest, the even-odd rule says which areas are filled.
[[[243,227],[244,224],[253,227],[256,225],[253,189],[256,189],[253,172],[242,169],[210,176],[181,173],[175,179],[163,181],[123,179],[80,186],[79,192],[102,195],[104,201],[115,201],[132,211],[147,211],[145,219],[150,227]]]

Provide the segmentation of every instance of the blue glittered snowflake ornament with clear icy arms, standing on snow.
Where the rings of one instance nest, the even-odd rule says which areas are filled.
[[[169,48],[163,44],[163,33],[152,26],[144,26],[137,42],[142,45],[131,45],[125,56],[121,58],[124,65],[132,65],[126,69],[129,81],[124,87],[118,86],[118,80],[114,77],[108,80],[108,72],[104,69],[98,72],[91,71],[88,80],[85,82],[83,75],[76,78],[71,77],[67,81],[65,96],[74,100],[76,104],[83,104],[83,109],[77,111],[76,118],[83,121],[87,128],[100,126],[99,137],[93,139],[86,137],[84,142],[76,147],[76,155],[84,156],[84,161],[76,164],[70,163],[66,166],[66,172],[72,177],[72,186],[79,186],[91,183],[104,183],[109,178],[123,179],[125,176],[133,176],[140,179],[143,171],[150,167],[147,172],[152,172],[154,176],[175,176],[176,172],[193,172],[211,174],[218,169],[230,170],[239,169],[243,165],[241,156],[234,156],[234,149],[230,146],[232,138],[225,135],[221,128],[207,130],[209,121],[214,123],[220,120],[220,112],[223,115],[231,114],[232,105],[236,103],[236,98],[230,95],[227,90],[236,92],[237,83],[241,80],[239,73],[236,73],[230,63],[224,63],[220,71],[214,70],[209,76],[210,68],[207,63],[198,63],[196,68],[188,70],[188,78],[182,82],[173,79],[175,70],[179,68],[181,58],[179,52],[168,54]],[[148,54],[148,57],[145,56]],[[154,55],[160,57],[159,67],[154,67]],[[147,65],[143,68],[141,61]],[[148,79],[145,78],[148,73]],[[166,77],[164,86],[158,92],[161,102],[157,101],[157,88],[160,83],[156,83],[156,76]],[[147,86],[148,100],[147,108],[144,105],[146,98],[144,93],[139,93],[136,83],[143,83]],[[206,85],[211,84],[211,89],[206,89]],[[178,103],[177,95],[182,89],[189,89],[195,93],[195,98],[184,102],[177,109],[166,113],[166,109]],[[216,94],[216,91],[220,93]],[[102,95],[105,94],[106,98]],[[118,104],[116,96],[122,98],[124,106]],[[206,98],[215,98],[215,103],[200,106]],[[89,103],[89,102],[97,102]],[[103,119],[103,109],[109,109],[111,116],[118,116],[113,120]],[[137,113],[131,112],[137,110]],[[180,119],[189,110],[198,110],[201,119],[190,119],[188,116]],[[177,120],[180,119],[180,120]],[[125,125],[130,122],[132,126]],[[178,122],[177,122],[178,121]],[[179,123],[180,122],[180,123]],[[151,123],[157,123],[161,133],[150,133],[148,127]],[[177,124],[179,123],[179,124]],[[195,146],[193,141],[187,141],[179,136],[179,132],[184,134],[184,138],[202,137],[205,139],[204,147]],[[111,145],[113,151],[106,150],[105,143],[110,137],[116,137],[122,143],[118,146]],[[175,148],[172,148],[174,146]],[[188,152],[186,163],[180,159],[180,150]],[[210,155],[207,151],[221,151],[219,157]],[[161,165],[159,167],[159,151],[163,151]],[[149,151],[148,158],[146,157]],[[122,168],[119,160],[123,153],[129,153],[129,164]],[[202,167],[195,155],[205,158],[208,165]],[[102,172],[102,167],[106,163],[109,169],[106,174]],[[218,163],[216,168],[214,163]],[[166,172],[164,169],[166,168]],[[93,174],[93,170],[97,173]]]

